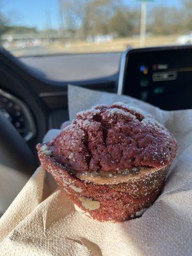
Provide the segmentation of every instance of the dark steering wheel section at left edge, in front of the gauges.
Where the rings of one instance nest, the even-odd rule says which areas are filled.
[[[6,211],[37,166],[26,141],[0,112],[0,215]]]

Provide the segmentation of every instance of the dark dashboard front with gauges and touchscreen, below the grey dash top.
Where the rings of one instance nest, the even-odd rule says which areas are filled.
[[[33,68],[1,48],[0,109],[35,152],[36,143],[49,129],[58,129],[68,120],[69,83],[130,95],[162,109],[191,108],[191,54],[189,45],[129,49],[122,54],[120,72],[112,76],[55,81],[38,76]]]

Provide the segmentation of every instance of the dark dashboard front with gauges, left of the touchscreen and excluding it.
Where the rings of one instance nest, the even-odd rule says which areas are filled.
[[[33,68],[0,48],[0,109],[34,152],[49,129],[58,129],[68,120],[68,83],[38,76]],[[117,83],[118,74],[70,81],[105,92],[117,92]]]

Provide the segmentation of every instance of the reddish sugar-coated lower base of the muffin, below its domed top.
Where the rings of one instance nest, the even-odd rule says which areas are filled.
[[[42,167],[70,196],[72,202],[85,214],[99,221],[125,221],[137,217],[152,204],[164,185],[169,166],[133,177],[120,184],[95,184],[75,177],[65,166],[40,151]]]

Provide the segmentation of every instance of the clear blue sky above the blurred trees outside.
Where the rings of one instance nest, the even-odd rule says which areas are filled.
[[[148,8],[161,5],[179,6],[180,0],[154,0]],[[140,6],[140,1],[124,0],[129,6]],[[1,0],[1,12],[11,20],[12,25],[30,26],[37,29],[59,28],[59,0]],[[50,19],[49,19],[50,17]]]

